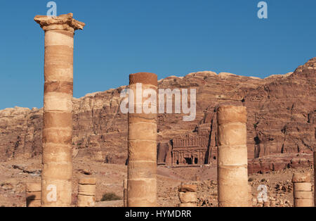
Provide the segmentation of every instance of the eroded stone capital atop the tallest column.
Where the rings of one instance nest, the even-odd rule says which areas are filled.
[[[85,23],[74,20],[73,14],[68,13],[59,16],[36,15],[34,20],[39,23],[41,28],[46,32],[49,30],[66,30],[74,32],[83,30]]]

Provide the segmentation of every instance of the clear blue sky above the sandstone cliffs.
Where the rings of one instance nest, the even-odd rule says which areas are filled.
[[[316,56],[316,1],[58,0],[58,15],[86,23],[75,34],[74,96],[128,84],[133,72],[212,70],[267,77]],[[0,1],[0,109],[43,106],[46,0]]]

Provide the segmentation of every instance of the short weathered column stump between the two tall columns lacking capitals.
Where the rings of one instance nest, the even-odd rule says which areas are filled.
[[[178,207],[197,207],[197,185],[181,184],[178,191],[180,199]]]

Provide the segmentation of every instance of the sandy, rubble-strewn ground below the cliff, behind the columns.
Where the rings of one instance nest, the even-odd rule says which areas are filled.
[[[0,206],[25,206],[25,184],[40,182],[41,159],[26,161],[11,160],[0,163]],[[123,206],[123,201],[103,201],[105,193],[115,193],[123,198],[123,180],[126,179],[125,165],[96,163],[89,160],[74,160],[73,203],[77,201],[77,181],[79,177],[96,177],[96,206]],[[268,187],[269,198],[281,199],[286,206],[293,206],[291,176],[293,172],[311,172],[312,168],[288,169],[279,172],[249,175],[253,198],[258,195],[260,184]],[[85,175],[90,173],[91,175]],[[200,206],[217,206],[216,167],[202,168],[157,168],[157,196],[160,206],[177,206],[178,185],[190,182],[198,186]]]

